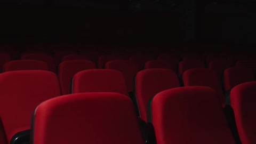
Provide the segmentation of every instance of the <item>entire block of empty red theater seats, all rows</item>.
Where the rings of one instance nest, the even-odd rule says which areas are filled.
[[[0,144],[256,142],[252,51],[179,42],[17,47],[0,44]]]

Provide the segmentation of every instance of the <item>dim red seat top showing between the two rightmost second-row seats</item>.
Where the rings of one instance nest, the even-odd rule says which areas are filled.
[[[214,70],[219,78],[222,78],[224,70],[230,67],[231,63],[228,60],[212,60],[209,63],[209,68]]]

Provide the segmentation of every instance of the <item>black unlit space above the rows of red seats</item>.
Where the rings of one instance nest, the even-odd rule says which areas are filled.
[[[0,42],[254,45],[256,1],[1,0]]]

